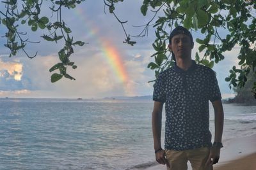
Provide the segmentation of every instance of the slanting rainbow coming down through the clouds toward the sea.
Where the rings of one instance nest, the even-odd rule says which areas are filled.
[[[133,95],[131,83],[129,83],[129,76],[122,61],[122,57],[118,52],[118,49],[115,46],[111,45],[111,41],[107,39],[100,38],[97,35],[98,28],[95,27],[90,20],[86,19],[86,15],[83,13],[83,10],[78,6],[74,10],[75,14],[83,22],[84,28],[86,29],[86,36],[88,38],[94,37],[97,39],[97,44],[100,46],[100,49],[104,53],[104,59],[108,62],[108,66],[111,67],[111,71],[115,74],[116,78],[124,84],[125,94],[128,96]]]

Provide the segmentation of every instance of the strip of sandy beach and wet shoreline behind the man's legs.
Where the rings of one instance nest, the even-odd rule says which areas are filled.
[[[256,134],[223,142],[220,161],[214,170],[256,170]],[[188,164],[189,169],[191,169]],[[165,170],[163,165],[148,167],[145,170]]]

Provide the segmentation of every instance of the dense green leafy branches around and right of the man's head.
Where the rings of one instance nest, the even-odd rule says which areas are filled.
[[[154,62],[150,62],[148,68],[154,70],[156,76],[174,64],[167,45],[169,32],[177,25],[183,25],[191,32],[204,34],[204,38],[196,39],[200,46],[195,60],[199,64],[213,67],[214,63],[225,59],[224,52],[239,46],[239,54],[234,56],[234,60],[235,57],[239,60],[239,68],[232,67],[230,75],[225,79],[230,82],[230,89],[244,87],[248,73],[255,72],[255,1],[144,0],[140,9],[143,15],[147,15],[149,11],[154,13],[154,17],[143,26],[143,31],[138,36],[147,35],[150,25],[155,29],[156,40],[152,46],[156,53],[151,56],[154,57]],[[256,83],[252,91],[256,94]]]

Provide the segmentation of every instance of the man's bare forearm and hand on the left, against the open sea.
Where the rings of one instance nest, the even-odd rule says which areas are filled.
[[[161,147],[161,129],[162,129],[162,110],[163,103],[155,101],[152,112],[152,132],[154,138],[154,149],[156,153],[156,161],[159,164],[167,164],[168,162],[164,156],[164,150]]]

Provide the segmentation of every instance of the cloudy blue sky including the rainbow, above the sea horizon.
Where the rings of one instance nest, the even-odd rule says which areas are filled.
[[[144,17],[140,13],[141,4],[141,0],[129,0],[116,6],[116,15],[120,20],[128,21],[124,25],[125,29],[133,35],[139,34],[143,28],[132,25],[144,25],[152,17],[152,14]],[[1,4],[0,10],[3,7]],[[51,17],[46,7],[42,9],[44,15]],[[47,32],[31,32],[29,27],[20,25],[20,31],[28,32],[31,41],[40,41],[26,46],[28,53],[38,54],[29,59],[20,51],[16,56],[8,57],[8,48],[4,47],[6,39],[2,38],[6,30],[0,25],[0,97],[103,98],[152,95],[152,83],[148,81],[155,79],[154,71],[147,68],[153,60],[150,56],[155,53],[152,48],[155,39],[152,27],[148,36],[135,39],[136,45],[127,45],[123,43],[125,34],[122,26],[109,14],[108,8],[104,12],[103,1],[95,0],[86,0],[75,9],[63,10],[62,18],[72,30],[74,39],[88,43],[76,46],[70,57],[77,69],[68,68],[68,74],[76,80],[62,78],[51,83],[52,73],[49,73],[49,69],[59,62],[58,51],[63,42],[45,42],[40,36]],[[193,32],[194,39],[202,36],[200,32]],[[192,51],[193,59],[196,48],[197,43]],[[237,66],[238,52],[239,46],[236,46],[224,53],[225,60],[213,67],[223,98],[234,96],[225,78],[229,69]]]

